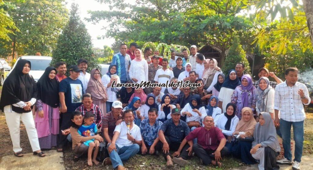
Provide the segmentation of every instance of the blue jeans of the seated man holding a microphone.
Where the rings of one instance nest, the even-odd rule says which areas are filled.
[[[107,148],[110,144],[107,146]],[[113,150],[109,155],[112,162],[113,168],[117,168],[119,165],[123,166],[123,162],[127,161],[132,156],[136,155],[139,152],[139,145],[132,144],[131,146],[123,146],[119,148],[117,144],[115,144],[116,151]]]

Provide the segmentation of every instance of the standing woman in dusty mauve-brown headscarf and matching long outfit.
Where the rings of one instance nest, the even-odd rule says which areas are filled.
[[[106,113],[106,104],[108,100],[108,94],[106,93],[106,88],[101,82],[101,74],[98,68],[94,68],[90,73],[90,80],[87,85],[86,93],[90,93],[92,96],[92,101],[95,105],[98,105],[102,111],[102,114]]]

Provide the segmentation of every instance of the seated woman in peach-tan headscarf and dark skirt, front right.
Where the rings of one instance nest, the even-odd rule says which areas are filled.
[[[256,125],[256,121],[253,117],[253,112],[251,108],[245,107],[241,111],[242,119],[237,124],[233,136],[239,141],[235,141],[232,154],[234,157],[241,159],[242,162],[246,164],[254,164],[255,160],[252,157],[250,150],[252,147],[253,132]],[[246,139],[244,141],[244,139]]]

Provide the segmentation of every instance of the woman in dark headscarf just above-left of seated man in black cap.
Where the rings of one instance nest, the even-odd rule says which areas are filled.
[[[171,104],[171,97],[169,94],[164,94],[162,97],[161,104],[159,104],[158,119],[163,123],[167,119],[171,118],[172,109],[176,108],[175,105]]]

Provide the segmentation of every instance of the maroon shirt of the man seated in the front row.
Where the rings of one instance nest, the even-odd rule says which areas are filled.
[[[206,130],[204,127],[196,128],[186,136],[187,141],[191,141],[194,138],[198,138],[198,144],[203,147],[203,149],[210,148],[213,151],[218,148],[219,142],[225,138],[223,133],[219,128],[212,128]]]

